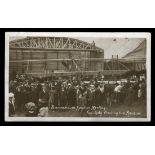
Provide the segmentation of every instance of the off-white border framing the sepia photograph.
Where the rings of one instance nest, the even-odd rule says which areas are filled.
[[[104,38],[146,38],[147,68],[147,118],[119,117],[9,117],[9,38],[24,36],[46,37],[104,37]],[[149,32],[6,32],[5,33],[5,121],[15,122],[146,122],[151,121],[151,33]]]

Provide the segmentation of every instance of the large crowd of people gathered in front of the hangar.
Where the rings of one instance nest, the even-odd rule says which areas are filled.
[[[146,103],[146,80],[108,81],[102,77],[38,79],[16,75],[9,82],[9,116],[48,116],[59,107],[112,107]],[[81,111],[79,111],[81,112]]]

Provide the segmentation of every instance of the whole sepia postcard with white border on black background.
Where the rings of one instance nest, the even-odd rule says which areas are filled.
[[[151,121],[151,33],[6,32],[5,121]]]

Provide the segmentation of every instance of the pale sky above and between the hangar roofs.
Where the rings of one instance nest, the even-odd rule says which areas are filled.
[[[11,37],[10,40],[21,39],[23,37]],[[118,55],[119,58],[134,50],[144,40],[142,38],[97,38],[97,37],[76,37],[104,49],[105,58]]]

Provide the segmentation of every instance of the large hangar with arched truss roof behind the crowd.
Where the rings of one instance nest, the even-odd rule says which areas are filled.
[[[121,75],[125,59],[104,58],[104,50],[67,37],[26,37],[9,42],[9,73],[47,77],[86,74]]]

